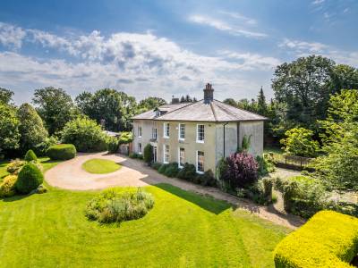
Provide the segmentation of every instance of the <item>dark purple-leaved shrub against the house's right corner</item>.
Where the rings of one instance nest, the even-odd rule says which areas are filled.
[[[259,165],[252,155],[235,153],[227,157],[226,162],[223,180],[228,181],[231,188],[245,188],[258,180]]]

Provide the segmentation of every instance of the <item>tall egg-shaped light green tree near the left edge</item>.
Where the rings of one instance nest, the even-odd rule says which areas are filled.
[[[34,149],[39,143],[45,141],[48,135],[47,130],[41,117],[31,105],[21,105],[17,111],[17,116],[20,121],[20,147],[22,152]]]

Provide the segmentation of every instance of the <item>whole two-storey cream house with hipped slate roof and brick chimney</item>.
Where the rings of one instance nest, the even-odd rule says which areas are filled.
[[[192,163],[198,173],[215,173],[217,162],[233,154],[245,136],[251,139],[249,153],[262,155],[266,118],[215,100],[210,84],[203,91],[204,98],[196,103],[173,99],[134,116],[133,152],[142,154],[150,144],[155,162]]]

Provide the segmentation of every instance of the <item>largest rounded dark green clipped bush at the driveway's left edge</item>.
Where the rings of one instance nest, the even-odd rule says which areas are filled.
[[[21,194],[29,194],[44,181],[44,175],[34,163],[26,163],[19,172],[15,188]]]

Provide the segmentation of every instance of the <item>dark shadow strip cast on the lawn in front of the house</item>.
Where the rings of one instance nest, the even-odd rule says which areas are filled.
[[[230,205],[226,201],[217,200],[209,196],[202,196],[200,194],[191,191],[186,191],[181,188],[177,188],[171,184],[159,183],[159,184],[155,184],[154,186],[161,188],[166,192],[175,195],[176,197],[183,198],[186,201],[191,202],[192,204],[198,205],[212,214],[221,214],[222,212],[230,208],[235,209],[234,205]]]

